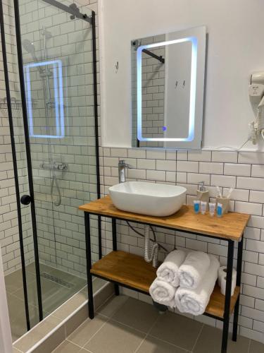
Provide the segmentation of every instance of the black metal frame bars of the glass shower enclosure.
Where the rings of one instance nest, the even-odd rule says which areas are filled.
[[[45,1],[45,0],[44,0]],[[48,1],[46,1],[48,2]],[[51,6],[56,6],[57,1],[54,1],[54,4]],[[24,134],[25,134],[25,148],[27,156],[27,172],[28,172],[28,184],[30,191],[30,207],[32,215],[32,233],[33,233],[33,243],[34,243],[34,260],[36,267],[36,281],[37,281],[37,298],[39,304],[39,321],[43,320],[43,307],[42,307],[42,289],[41,289],[41,280],[40,280],[40,270],[39,270],[39,251],[38,251],[38,240],[37,240],[37,221],[36,213],[34,206],[34,185],[32,177],[32,161],[31,161],[31,152],[30,152],[30,136],[27,123],[27,101],[25,95],[25,80],[23,72],[23,54],[22,54],[22,43],[21,43],[21,33],[20,33],[20,14],[19,14],[19,0],[13,0],[14,4],[14,14],[15,14],[15,37],[17,43],[17,54],[18,54],[18,71],[20,77],[20,95],[22,102],[22,112],[23,112],[23,125],[24,125]],[[63,8],[64,11],[67,11],[66,8]],[[71,13],[71,11],[67,11]],[[95,21],[95,12],[92,11],[92,16],[78,16],[82,20],[87,21],[92,25],[92,56],[93,56],[93,78],[94,78],[94,120],[95,120],[95,148],[96,148],[96,193],[97,198],[101,198],[101,185],[100,185],[100,167],[99,167],[99,121],[98,121],[98,98],[97,98],[97,65],[96,65],[96,21]],[[5,31],[4,31],[4,13],[3,13],[3,4],[0,0],[0,22],[1,22],[1,42],[2,42],[2,52],[3,52],[3,62],[4,62],[4,76],[6,84],[6,101],[8,107],[8,120],[10,126],[11,134],[11,148],[13,156],[13,169],[14,169],[14,179],[15,179],[15,193],[16,193],[16,202],[18,209],[18,230],[19,230],[19,241],[20,241],[20,254],[21,254],[21,267],[23,275],[23,290],[25,297],[25,316],[27,321],[27,330],[30,330],[30,314],[28,306],[28,297],[27,297],[27,278],[25,270],[25,253],[23,246],[23,225],[21,217],[21,207],[20,207],[20,191],[19,191],[19,179],[18,179],[18,166],[16,160],[15,152],[15,138],[13,131],[13,116],[12,116],[12,104],[11,104],[11,94],[9,88],[8,80],[8,61],[6,57],[6,41],[5,41]],[[101,251],[101,216],[98,216],[98,232],[99,232],[99,258],[102,257]]]

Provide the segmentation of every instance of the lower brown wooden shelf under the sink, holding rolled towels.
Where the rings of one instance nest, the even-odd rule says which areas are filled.
[[[112,251],[101,260],[94,263],[91,273],[111,282],[117,282],[140,292],[149,294],[149,287],[156,278],[156,269],[151,263],[146,263],[141,256],[125,251]],[[240,288],[236,287],[231,297],[230,315],[239,297]],[[220,287],[216,284],[210,297],[205,314],[224,317],[225,296],[221,294]]]

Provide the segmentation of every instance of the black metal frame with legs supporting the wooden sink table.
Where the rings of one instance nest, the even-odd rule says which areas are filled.
[[[109,280],[106,277],[100,275],[94,275],[91,273],[92,269],[92,253],[91,253],[91,234],[90,234],[90,223],[89,217],[90,215],[99,215],[97,213],[87,213],[84,212],[84,219],[85,219],[85,239],[87,244],[87,284],[88,284],[88,310],[89,310],[89,318],[94,318],[94,298],[93,298],[93,289],[92,289],[92,276],[102,278],[103,280],[107,280],[108,282],[113,282],[115,286],[115,294],[119,294],[118,286],[122,286],[128,289],[133,289],[136,292],[147,294],[146,292],[142,292],[141,290],[127,286],[123,283]],[[111,217],[106,215],[105,217],[111,218],[112,220],[112,234],[113,234],[113,251],[117,250],[117,237],[116,237],[116,220],[126,220],[125,218],[120,217]],[[185,232],[189,234],[198,234],[197,232],[188,232],[182,229],[175,229],[173,227],[162,227],[157,226],[153,223],[145,223],[145,222],[138,222],[141,225],[154,225],[158,228],[164,229],[173,229],[175,231]],[[204,313],[203,315],[209,316],[210,318],[215,318],[223,322],[223,329],[222,329],[222,347],[221,353],[227,353],[227,341],[228,341],[228,330],[229,330],[229,322],[230,322],[230,301],[231,301],[231,290],[232,290],[232,269],[233,269],[233,258],[234,258],[234,241],[232,239],[225,239],[223,237],[214,237],[208,234],[199,234],[203,237],[209,237],[213,239],[225,240],[228,242],[228,251],[227,251],[227,284],[225,288],[225,311],[224,317],[220,318],[218,316],[213,316],[209,313]],[[238,244],[238,253],[237,253],[237,286],[241,284],[241,266],[242,266],[242,253],[243,253],[243,239],[244,235],[241,236],[241,241]],[[234,306],[234,323],[233,323],[233,333],[232,333],[232,340],[237,341],[237,324],[238,324],[238,316],[239,316],[239,296],[237,297],[236,304]]]

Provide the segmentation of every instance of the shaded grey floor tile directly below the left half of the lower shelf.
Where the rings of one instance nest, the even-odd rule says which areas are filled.
[[[153,305],[129,298],[112,316],[113,320],[147,333],[158,317]]]

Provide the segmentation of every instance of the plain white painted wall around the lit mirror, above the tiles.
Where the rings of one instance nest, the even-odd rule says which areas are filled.
[[[208,29],[203,147],[244,143],[254,119],[249,74],[264,70],[262,0],[100,0],[99,6],[104,146],[131,146],[130,40],[198,25]]]

